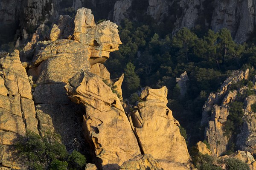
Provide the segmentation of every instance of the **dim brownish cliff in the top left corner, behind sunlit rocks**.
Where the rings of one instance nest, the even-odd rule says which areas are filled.
[[[11,42],[18,37],[20,45],[31,40],[38,26],[40,27],[42,23],[52,22],[58,16],[59,5],[59,0],[1,1],[0,44]]]

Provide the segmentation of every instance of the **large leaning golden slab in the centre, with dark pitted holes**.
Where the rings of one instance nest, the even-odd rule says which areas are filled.
[[[103,168],[117,169],[140,154],[131,125],[119,98],[101,77],[91,73],[81,73],[78,77],[71,79],[76,83],[70,83],[66,89],[72,101],[86,106],[84,135]]]

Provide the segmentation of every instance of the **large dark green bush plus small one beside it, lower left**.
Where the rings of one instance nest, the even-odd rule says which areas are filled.
[[[57,133],[46,132],[41,137],[28,131],[25,136],[17,139],[15,149],[18,151],[18,157],[33,170],[66,170],[68,165],[79,169],[85,164],[85,157],[77,151],[68,156],[66,147],[61,144],[61,137]]]

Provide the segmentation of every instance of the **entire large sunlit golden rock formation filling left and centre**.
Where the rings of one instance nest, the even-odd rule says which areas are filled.
[[[17,50],[0,57],[0,169],[20,168],[8,150],[28,130],[41,136],[55,131],[68,150],[74,140],[85,150],[85,138],[98,169],[119,169],[128,160],[145,169],[149,162],[152,168],[190,168],[179,123],[166,107],[166,87],[145,88],[142,102],[125,113],[124,74],[110,79],[102,64],[120,44],[115,23],[96,25],[91,10],[80,8],[75,18],[60,16],[45,41],[29,42],[21,59]]]

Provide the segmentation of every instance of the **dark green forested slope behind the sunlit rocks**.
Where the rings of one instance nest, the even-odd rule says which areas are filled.
[[[173,11],[179,9],[178,4],[174,3],[173,6],[176,6],[172,8]],[[218,32],[201,26],[182,28],[173,36],[170,30],[171,23],[175,21],[168,18],[166,22],[169,25],[160,26],[143,16],[137,21],[123,20],[119,26],[123,44],[119,46],[119,51],[110,54],[111,60],[105,64],[112,78],[125,73],[122,85],[124,98],[129,98],[140,87],[161,88],[165,85],[169,89],[168,106],[175,119],[186,129],[189,144],[195,144],[200,136],[204,136],[200,121],[207,97],[220,88],[233,70],[256,67],[256,47],[254,44],[236,44],[226,28]],[[189,76],[189,82],[186,96],[180,99],[175,80],[184,71]],[[242,84],[247,85],[247,82],[237,86],[241,87]],[[247,86],[251,87],[250,82]],[[233,89],[237,90],[235,86]],[[133,102],[136,102],[135,98],[137,96],[134,96]],[[195,124],[197,126],[191,128]],[[229,129],[232,130],[232,125],[227,127],[227,131]]]

